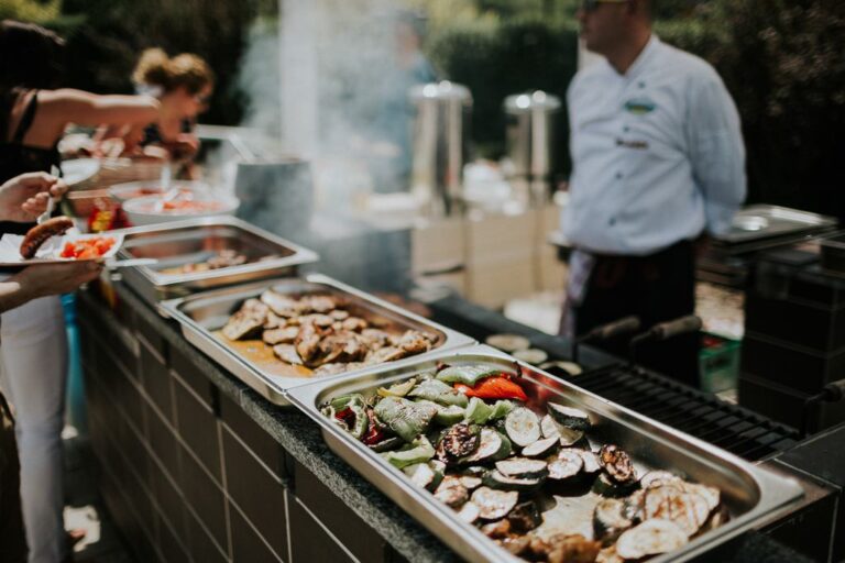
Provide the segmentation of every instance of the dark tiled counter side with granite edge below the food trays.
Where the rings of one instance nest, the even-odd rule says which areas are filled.
[[[78,298],[101,490],[138,561],[449,561],[318,427],[209,361],[118,284]]]

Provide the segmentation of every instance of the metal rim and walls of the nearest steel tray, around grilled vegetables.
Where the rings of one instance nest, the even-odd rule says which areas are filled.
[[[417,373],[435,369],[438,362],[451,365],[486,364],[513,368],[515,360],[489,346],[472,346],[442,352],[403,366],[345,377],[314,382],[288,391],[289,400],[310,416],[322,430],[329,448],[361,475],[391,497],[410,516],[469,561],[520,561],[474,526],[460,520],[451,508],[416,487],[406,476],[382,460],[363,443],[332,423],[319,405],[337,395],[369,391],[404,380]],[[549,398],[590,412],[594,427],[591,441],[616,443],[627,451],[638,474],[649,468],[670,470],[695,482],[718,487],[732,519],[721,528],[703,533],[683,549],[650,561],[685,561],[724,543],[788,508],[803,492],[792,479],[775,475],[695,438],[649,420],[579,387],[561,382],[527,364],[523,366],[523,387],[535,406]]]

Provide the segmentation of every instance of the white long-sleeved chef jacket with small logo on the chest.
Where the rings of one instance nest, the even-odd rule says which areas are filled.
[[[707,63],[652,35],[625,75],[602,59],[568,92],[578,249],[646,255],[726,231],[745,199],[739,117]]]

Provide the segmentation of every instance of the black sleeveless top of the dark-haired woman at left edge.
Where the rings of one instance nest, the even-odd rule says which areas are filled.
[[[12,115],[12,108],[20,99],[25,96],[28,90],[22,88],[12,88],[0,92],[0,184],[28,172],[46,172],[52,166],[59,166],[58,143],[50,148],[40,146],[26,146],[23,140],[26,132],[32,126],[35,118],[35,111],[39,107],[39,92],[34,91],[29,104],[23,111],[21,122],[14,134],[9,136],[9,126]],[[13,233],[25,234],[34,223],[15,223],[12,221],[0,221],[0,234]]]

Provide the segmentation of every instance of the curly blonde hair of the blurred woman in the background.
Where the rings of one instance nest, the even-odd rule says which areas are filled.
[[[197,95],[206,86],[213,86],[215,74],[201,57],[183,53],[171,58],[161,48],[149,48],[132,73],[135,84],[160,86],[165,92],[184,87],[188,93]]]

